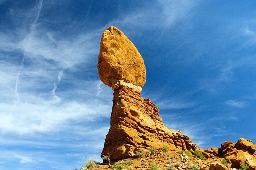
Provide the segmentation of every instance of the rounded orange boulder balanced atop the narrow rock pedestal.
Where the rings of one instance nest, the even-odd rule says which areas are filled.
[[[146,83],[146,67],[137,48],[114,26],[106,29],[100,42],[98,56],[100,80],[114,88],[112,80],[122,80],[135,86]]]

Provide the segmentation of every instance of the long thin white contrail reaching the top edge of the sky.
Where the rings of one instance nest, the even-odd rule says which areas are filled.
[[[20,69],[19,69],[19,72],[18,72],[18,75],[17,75],[17,78],[16,78],[16,82],[15,82],[15,99],[16,101],[19,101],[20,100],[20,97],[19,97],[19,94],[18,94],[18,80],[20,78],[20,72],[21,72],[21,69],[24,65],[24,59],[25,59],[25,56],[26,56],[26,52],[28,50],[28,46],[30,45],[30,42],[33,38],[33,32],[34,32],[34,29],[36,28],[36,22],[39,18],[39,15],[40,15],[40,11],[41,11],[41,8],[42,8],[42,5],[43,5],[43,0],[40,0],[40,3],[38,5],[38,10],[37,10],[37,13],[36,13],[36,18],[34,19],[33,23],[32,23],[32,27],[31,27],[31,32],[30,32],[30,37],[29,37],[29,40],[28,40],[28,44],[25,48],[25,51],[23,53],[23,57],[22,57],[22,60],[20,62]]]

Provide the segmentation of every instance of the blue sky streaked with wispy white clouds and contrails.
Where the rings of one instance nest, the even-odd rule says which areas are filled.
[[[0,170],[73,170],[100,153],[112,89],[97,72],[116,26],[146,64],[142,97],[202,148],[256,141],[254,1],[0,0]]]

